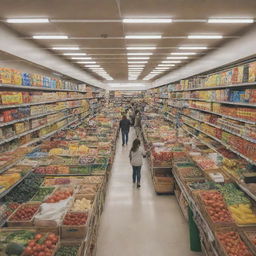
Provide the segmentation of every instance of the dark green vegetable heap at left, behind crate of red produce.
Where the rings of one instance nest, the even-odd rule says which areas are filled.
[[[38,190],[43,179],[34,173],[30,173],[19,185],[5,196],[7,202],[24,203],[29,201]]]

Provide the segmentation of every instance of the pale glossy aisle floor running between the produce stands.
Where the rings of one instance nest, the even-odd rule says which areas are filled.
[[[199,256],[189,250],[188,225],[174,196],[157,196],[146,161],[141,188],[133,186],[129,145],[117,142],[105,208],[101,217],[97,256]]]

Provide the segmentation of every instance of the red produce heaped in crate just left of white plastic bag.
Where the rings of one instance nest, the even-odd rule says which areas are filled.
[[[9,221],[29,221],[39,209],[39,204],[21,205]]]

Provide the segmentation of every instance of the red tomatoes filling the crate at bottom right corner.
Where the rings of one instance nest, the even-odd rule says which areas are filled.
[[[218,232],[217,237],[228,256],[253,256],[237,232]]]

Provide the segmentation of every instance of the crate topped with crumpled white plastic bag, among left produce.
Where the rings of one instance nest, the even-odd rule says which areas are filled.
[[[34,224],[36,226],[58,226],[65,214],[68,206],[71,204],[72,197],[61,200],[58,203],[43,203],[40,206],[39,213],[35,216]]]

